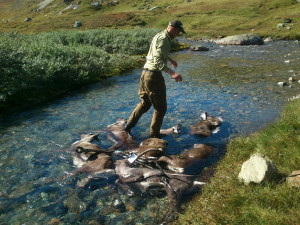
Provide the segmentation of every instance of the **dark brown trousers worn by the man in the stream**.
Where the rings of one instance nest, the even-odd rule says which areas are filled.
[[[150,137],[159,137],[159,131],[167,111],[166,84],[161,71],[143,70],[140,78],[139,96],[141,102],[133,110],[128,123],[134,127],[141,116],[153,106]]]

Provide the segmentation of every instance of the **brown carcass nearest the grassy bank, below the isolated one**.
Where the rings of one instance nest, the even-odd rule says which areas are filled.
[[[185,169],[201,159],[207,158],[213,151],[213,147],[205,144],[194,144],[193,148],[180,155],[161,156],[157,162],[169,170],[184,173]]]

